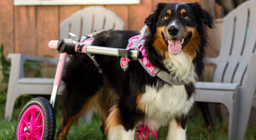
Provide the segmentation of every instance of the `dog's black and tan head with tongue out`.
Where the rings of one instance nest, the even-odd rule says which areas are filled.
[[[153,14],[145,19],[154,47],[159,54],[179,54],[192,59],[207,42],[207,28],[214,28],[213,17],[195,3],[158,3]]]

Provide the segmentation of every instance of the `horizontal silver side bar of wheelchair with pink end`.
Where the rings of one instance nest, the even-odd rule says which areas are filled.
[[[61,40],[51,40],[48,43],[49,48],[57,49],[59,53],[66,52],[67,54],[76,54],[79,42],[72,39],[61,39]],[[134,49],[119,49],[119,48],[109,48],[101,46],[92,45],[82,45],[81,53],[90,54],[103,54],[111,56],[121,56],[123,58],[141,58],[141,52]]]

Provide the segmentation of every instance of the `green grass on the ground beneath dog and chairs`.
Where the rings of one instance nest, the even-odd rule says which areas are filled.
[[[28,98],[28,97],[27,97]],[[31,98],[31,97],[29,97]],[[0,140],[13,139],[14,128],[16,124],[17,116],[22,109],[21,101],[16,103],[15,109],[13,111],[12,119],[4,119],[4,110],[5,110],[5,99],[6,93],[0,92]],[[22,99],[28,100],[28,99]],[[57,99],[56,104],[59,104]],[[56,109],[56,133],[59,128],[59,122],[61,118],[61,109],[57,106]],[[105,140],[101,130],[99,129],[100,119],[97,115],[94,115],[92,120],[89,123],[80,121],[79,125],[73,124],[71,130],[67,135],[67,139],[73,140]],[[217,127],[215,129],[207,128],[204,123],[202,114],[198,111],[191,111],[188,116],[187,122],[187,139],[188,140],[227,140],[228,139],[228,122],[221,122],[217,120]],[[159,130],[159,140],[164,140],[167,136],[167,127],[160,128]],[[256,139],[256,128],[249,125],[247,128],[246,140]]]

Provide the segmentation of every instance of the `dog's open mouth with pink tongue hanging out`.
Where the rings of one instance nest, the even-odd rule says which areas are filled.
[[[168,46],[169,53],[174,55],[179,54],[189,42],[190,36],[191,35],[188,35],[184,39],[172,38],[170,40],[165,40],[165,44]]]

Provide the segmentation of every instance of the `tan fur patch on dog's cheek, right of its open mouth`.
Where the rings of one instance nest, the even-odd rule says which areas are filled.
[[[183,48],[183,52],[190,56],[191,61],[196,57],[196,51],[199,51],[200,37],[195,28],[187,27],[186,30],[192,33],[188,44]]]

